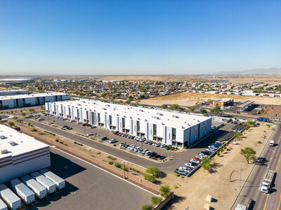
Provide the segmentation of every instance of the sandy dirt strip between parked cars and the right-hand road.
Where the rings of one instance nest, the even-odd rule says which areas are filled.
[[[176,177],[174,174],[169,174],[162,179],[163,184],[168,184],[171,190],[174,190],[176,195],[175,203],[170,209],[185,209],[190,210],[203,209],[207,195],[212,195],[216,202],[209,203],[214,209],[230,209],[235,200],[235,189],[240,190],[240,166],[242,165],[242,182],[246,180],[252,164],[247,164],[246,159],[240,155],[240,149],[250,146],[256,151],[258,157],[262,151],[263,144],[259,144],[257,139],[261,139],[263,134],[270,137],[273,130],[268,130],[265,125],[252,127],[244,132],[241,140],[237,141],[237,145],[230,144],[230,151],[225,151],[220,157],[214,157],[216,167],[214,172],[204,172],[201,168],[190,178]],[[266,140],[265,140],[266,141]],[[231,182],[230,174],[233,172]],[[191,190],[192,189],[192,190]]]

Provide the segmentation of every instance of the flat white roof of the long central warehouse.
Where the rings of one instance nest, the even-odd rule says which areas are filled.
[[[164,111],[160,109],[148,109],[141,106],[126,106],[120,104],[110,104],[95,100],[81,99],[70,100],[64,102],[53,102],[55,104],[77,107],[78,109],[87,109],[88,111],[96,111],[98,113],[107,113],[109,115],[119,115],[124,118],[131,118],[133,120],[147,120],[149,123],[166,125],[167,127],[174,127],[186,129],[192,125],[196,125],[209,117],[195,116],[187,113],[178,113],[176,111]]]

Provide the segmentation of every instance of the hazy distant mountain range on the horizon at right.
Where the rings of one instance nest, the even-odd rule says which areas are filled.
[[[244,71],[218,71],[209,74],[281,74],[281,68],[270,68],[270,69],[250,69]]]

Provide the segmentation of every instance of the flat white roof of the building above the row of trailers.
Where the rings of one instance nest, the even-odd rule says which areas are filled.
[[[0,153],[0,159],[46,147],[48,145],[33,137],[17,132],[6,125],[0,125],[0,150],[6,149],[8,151],[6,154]]]

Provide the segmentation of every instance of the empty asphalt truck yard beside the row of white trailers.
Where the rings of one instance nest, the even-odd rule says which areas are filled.
[[[78,158],[51,149],[52,171],[66,180],[66,189],[41,200],[33,209],[141,209],[152,193]]]

